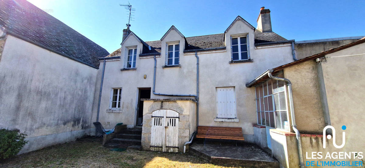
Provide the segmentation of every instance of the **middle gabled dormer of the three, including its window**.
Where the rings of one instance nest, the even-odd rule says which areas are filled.
[[[165,55],[165,65],[180,65],[180,56],[186,46],[185,36],[173,25],[161,38],[161,55]]]

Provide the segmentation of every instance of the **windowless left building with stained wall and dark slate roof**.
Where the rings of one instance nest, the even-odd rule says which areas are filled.
[[[0,127],[28,135],[20,153],[90,135],[109,53],[26,0],[0,0],[0,26]]]

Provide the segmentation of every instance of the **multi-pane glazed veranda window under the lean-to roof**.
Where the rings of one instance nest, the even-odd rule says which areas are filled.
[[[283,77],[282,74],[278,76]],[[257,124],[289,131],[285,83],[270,79],[257,85],[255,92]]]

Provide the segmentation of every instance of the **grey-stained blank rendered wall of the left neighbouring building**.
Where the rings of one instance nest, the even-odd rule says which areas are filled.
[[[8,35],[0,61],[0,127],[28,135],[22,152],[89,134],[96,74]]]

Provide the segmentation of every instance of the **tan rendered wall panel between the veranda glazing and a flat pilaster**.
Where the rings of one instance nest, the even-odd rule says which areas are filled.
[[[299,131],[322,133],[326,125],[324,125],[316,62],[310,60],[285,68],[284,77],[292,83],[295,120]]]

